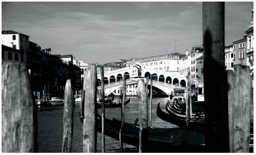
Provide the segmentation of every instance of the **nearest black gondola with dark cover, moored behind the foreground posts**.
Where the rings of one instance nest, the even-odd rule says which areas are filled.
[[[101,133],[101,116],[97,131]],[[105,118],[105,135],[119,140],[120,121]],[[124,123],[123,142],[139,147],[139,126]],[[149,128],[146,141],[148,152],[206,152],[203,127]]]

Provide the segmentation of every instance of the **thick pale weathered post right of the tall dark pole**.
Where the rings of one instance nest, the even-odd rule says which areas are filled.
[[[250,69],[237,65],[227,70],[230,152],[249,152],[252,81]]]

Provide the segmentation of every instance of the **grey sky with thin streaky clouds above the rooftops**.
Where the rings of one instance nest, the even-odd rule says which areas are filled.
[[[225,2],[225,45],[242,39],[253,2]],[[185,54],[202,45],[202,2],[2,2],[2,30],[87,64]]]

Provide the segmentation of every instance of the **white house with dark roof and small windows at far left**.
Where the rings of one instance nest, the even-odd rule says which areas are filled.
[[[2,44],[23,51],[23,53],[20,53],[20,60],[27,62],[26,53],[29,49],[29,36],[16,32],[14,30],[3,30]]]

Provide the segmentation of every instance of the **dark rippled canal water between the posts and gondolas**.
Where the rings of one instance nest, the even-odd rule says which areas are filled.
[[[128,99],[128,97],[126,97]],[[137,97],[130,97],[131,101],[125,105],[124,120],[128,123],[134,123],[135,119],[139,119],[139,102]],[[165,109],[167,97],[152,99],[152,126],[160,128],[177,127],[170,124],[156,115],[158,102],[160,107]],[[115,97],[118,103],[119,97]],[[149,103],[148,99],[148,103]],[[148,107],[149,108],[149,107]],[[63,138],[63,105],[55,106],[39,106],[37,109],[37,142],[38,152],[61,152]],[[79,120],[80,103],[75,102],[74,106],[74,130],[72,140],[72,152],[83,152],[83,125]],[[101,115],[101,109],[98,109]],[[112,119],[113,117],[121,120],[121,108],[106,108],[105,117]],[[136,150],[137,147],[123,143],[124,151]],[[106,152],[118,152],[120,150],[119,141],[105,136]],[[101,152],[101,133],[97,133],[97,152]]]

